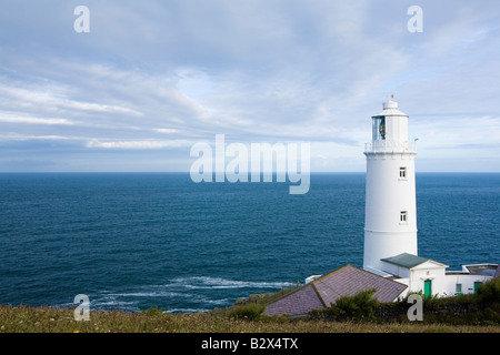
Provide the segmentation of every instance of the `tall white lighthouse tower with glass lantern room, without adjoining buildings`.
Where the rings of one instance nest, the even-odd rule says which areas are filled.
[[[366,144],[367,196],[363,268],[382,270],[381,258],[417,255],[414,141],[408,141],[408,115],[389,100],[372,116]]]

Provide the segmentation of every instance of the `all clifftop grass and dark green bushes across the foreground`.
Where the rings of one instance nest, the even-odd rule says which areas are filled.
[[[423,322],[408,321],[407,300],[380,304],[373,290],[341,297],[300,320],[261,314],[288,291],[196,314],[91,311],[88,322],[74,321],[71,308],[7,305],[0,306],[0,333],[500,333],[500,278],[481,285],[477,294],[426,300]]]

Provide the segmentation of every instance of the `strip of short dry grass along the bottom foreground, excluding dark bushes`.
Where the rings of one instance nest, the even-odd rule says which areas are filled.
[[[77,322],[68,308],[0,306],[0,333],[500,333],[500,325],[249,321],[226,314],[122,311],[93,311],[90,321]]]

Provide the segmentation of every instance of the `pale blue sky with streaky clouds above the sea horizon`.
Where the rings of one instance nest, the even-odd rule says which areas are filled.
[[[0,0],[0,172],[189,172],[216,134],[364,172],[391,94],[417,171],[500,172],[499,19],[493,0]]]

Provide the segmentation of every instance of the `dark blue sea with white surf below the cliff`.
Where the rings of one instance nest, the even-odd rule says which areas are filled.
[[[364,173],[194,183],[188,173],[0,174],[0,304],[189,313],[362,267]],[[418,173],[419,255],[500,262],[500,174]],[[80,302],[80,300],[78,300]]]

